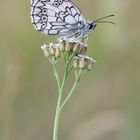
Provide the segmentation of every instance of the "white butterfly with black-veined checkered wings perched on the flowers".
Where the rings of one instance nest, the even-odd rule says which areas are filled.
[[[31,20],[45,35],[66,38],[87,35],[99,21],[87,21],[72,0],[31,0]]]

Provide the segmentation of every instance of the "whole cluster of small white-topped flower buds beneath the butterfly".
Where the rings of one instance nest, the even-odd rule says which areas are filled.
[[[87,39],[69,39],[59,38],[57,44],[50,43],[49,45],[44,44],[41,49],[44,51],[46,57],[56,59],[64,54],[67,56],[66,61],[73,61],[73,67],[76,69],[91,70],[96,60],[84,55],[87,52]],[[71,59],[72,56],[72,59]],[[65,59],[66,59],[65,58]],[[69,62],[68,62],[69,63]]]

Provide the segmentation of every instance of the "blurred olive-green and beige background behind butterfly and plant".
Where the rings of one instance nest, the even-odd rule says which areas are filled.
[[[139,0],[75,0],[87,19],[109,14],[90,34],[97,59],[66,105],[60,140],[140,140]],[[57,90],[30,1],[0,1],[0,140],[51,140]],[[69,81],[71,83],[71,81]]]

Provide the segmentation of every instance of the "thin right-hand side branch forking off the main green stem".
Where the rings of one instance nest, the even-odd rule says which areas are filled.
[[[77,75],[77,77],[76,77],[76,80],[75,80],[75,82],[74,82],[74,85],[73,85],[73,87],[72,87],[70,93],[68,94],[68,96],[66,97],[66,99],[64,100],[64,102],[62,103],[62,105],[60,106],[60,110],[61,110],[61,111],[62,111],[63,107],[65,106],[65,104],[68,102],[68,100],[69,100],[69,99],[71,98],[71,96],[73,95],[74,90],[75,90],[75,88],[77,87],[77,84],[79,83],[79,80],[80,80],[80,77],[81,77],[81,73],[82,73],[82,70],[80,70],[80,71],[78,72],[78,75]]]

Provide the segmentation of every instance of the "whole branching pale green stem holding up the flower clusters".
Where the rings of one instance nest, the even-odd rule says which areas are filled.
[[[64,91],[64,86],[65,86],[65,82],[67,79],[67,76],[69,74],[69,64],[72,61],[72,57],[70,58],[66,55],[64,56],[64,62],[65,62],[65,70],[64,70],[64,76],[63,76],[63,80],[62,83],[60,83],[60,79],[59,79],[59,74],[58,74],[58,69],[57,69],[57,63],[53,63],[53,68],[54,68],[54,75],[56,77],[56,81],[57,81],[57,85],[58,85],[58,100],[57,100],[57,107],[56,107],[56,113],[55,113],[55,120],[54,120],[54,131],[53,131],[53,140],[58,140],[58,129],[59,129],[59,124],[60,124],[60,116],[61,116],[61,112],[62,112],[62,108],[65,105],[65,103],[67,102],[67,100],[70,98],[70,96],[72,95],[77,83],[79,82],[80,79],[80,75],[81,75],[81,70],[78,73],[78,77],[76,78],[75,84],[68,96],[68,98],[64,101],[64,103],[62,104],[62,96],[63,96],[63,91]]]

